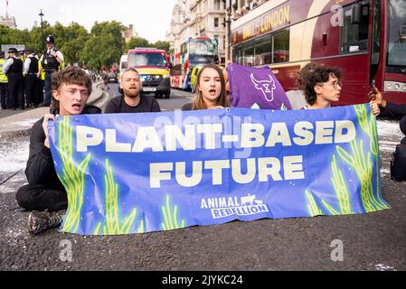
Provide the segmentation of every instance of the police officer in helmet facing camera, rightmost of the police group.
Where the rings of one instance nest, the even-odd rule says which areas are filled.
[[[46,51],[43,51],[41,61],[42,69],[38,71],[37,77],[41,77],[42,70],[45,70],[45,99],[41,107],[51,106],[51,75],[58,71],[63,62],[63,54],[55,48],[55,39],[52,35],[45,38]]]

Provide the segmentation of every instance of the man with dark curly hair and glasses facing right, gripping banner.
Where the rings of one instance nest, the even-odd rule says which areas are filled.
[[[307,78],[305,89],[307,105],[303,109],[328,108],[340,99],[341,71],[330,67],[317,67]],[[376,101],[370,102],[373,115],[380,113]]]

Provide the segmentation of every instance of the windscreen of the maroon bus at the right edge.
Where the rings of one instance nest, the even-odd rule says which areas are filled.
[[[400,72],[406,66],[406,2],[390,0],[388,5],[387,71]]]

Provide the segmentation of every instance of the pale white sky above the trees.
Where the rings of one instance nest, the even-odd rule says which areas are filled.
[[[5,2],[0,0],[0,15],[5,16]],[[43,20],[52,25],[59,21],[80,23],[90,30],[96,21],[116,20],[124,25],[134,24],[140,37],[149,42],[165,40],[175,0],[8,0],[8,14],[15,17],[18,29],[31,29],[34,21]]]

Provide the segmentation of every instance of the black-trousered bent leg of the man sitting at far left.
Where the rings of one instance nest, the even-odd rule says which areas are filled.
[[[25,210],[66,210],[68,197],[65,191],[55,190],[54,187],[42,184],[28,184],[21,187],[15,199]]]

